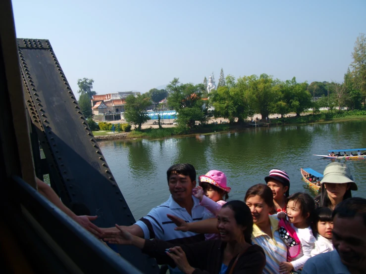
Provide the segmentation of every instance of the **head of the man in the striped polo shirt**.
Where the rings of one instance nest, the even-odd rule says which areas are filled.
[[[196,186],[196,170],[191,164],[175,164],[166,172],[169,191],[174,201],[184,202],[192,197]]]

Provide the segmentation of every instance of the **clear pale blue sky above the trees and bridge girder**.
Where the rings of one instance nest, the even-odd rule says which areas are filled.
[[[18,38],[49,39],[74,92],[149,91],[221,67],[298,82],[342,81],[365,0],[13,0]]]

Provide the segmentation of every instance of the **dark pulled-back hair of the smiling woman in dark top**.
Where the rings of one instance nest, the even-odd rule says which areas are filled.
[[[252,232],[253,232],[253,217],[249,207],[246,203],[238,200],[229,201],[222,206],[230,207],[234,211],[234,218],[238,225],[245,227],[244,239],[247,243],[252,244]]]

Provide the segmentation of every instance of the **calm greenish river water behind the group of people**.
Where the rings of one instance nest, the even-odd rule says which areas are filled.
[[[244,199],[247,189],[265,183],[272,168],[290,176],[290,194],[306,191],[300,168],[323,173],[330,160],[313,156],[328,149],[366,147],[366,120],[312,125],[247,129],[240,133],[199,135],[139,141],[102,141],[99,145],[135,219],[169,196],[166,170],[176,163],[190,163],[197,177],[223,171],[232,188],[230,199]],[[344,163],[345,160],[340,160]],[[366,198],[366,161],[346,161],[359,190]]]

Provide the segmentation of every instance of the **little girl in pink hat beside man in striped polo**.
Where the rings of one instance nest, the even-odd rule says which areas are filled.
[[[200,205],[206,208],[205,218],[215,218],[221,207],[228,199],[231,187],[226,185],[226,176],[218,170],[210,170],[199,177],[199,184],[193,189],[193,196],[200,200]],[[218,234],[205,234],[206,240],[217,239]]]

